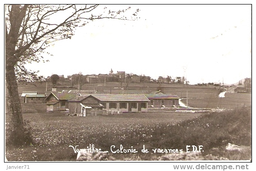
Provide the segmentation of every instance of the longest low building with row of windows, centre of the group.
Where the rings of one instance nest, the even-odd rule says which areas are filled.
[[[83,94],[82,94],[83,95]],[[146,113],[148,98],[139,94],[92,94],[100,100],[103,110]]]

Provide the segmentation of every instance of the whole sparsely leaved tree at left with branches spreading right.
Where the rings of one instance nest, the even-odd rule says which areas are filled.
[[[132,12],[130,7],[118,11],[99,8],[97,4],[5,5],[5,81],[13,143],[22,144],[25,137],[17,79],[37,79],[37,72],[28,71],[25,64],[45,62],[46,48],[55,41],[71,38],[76,27],[104,18],[127,20],[125,15],[135,20],[139,11]]]

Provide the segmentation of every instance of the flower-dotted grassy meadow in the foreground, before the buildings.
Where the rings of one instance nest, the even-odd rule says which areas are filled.
[[[7,144],[8,161],[75,161],[76,153],[69,146],[87,148],[90,144],[109,151],[101,160],[251,159],[250,108],[210,114],[159,112],[96,117],[70,117],[65,114],[24,113],[34,142],[19,147]],[[6,119],[8,122],[8,116]],[[243,147],[243,150],[225,150],[228,142]],[[111,151],[113,145],[115,148]],[[114,153],[120,145],[138,152]],[[143,145],[149,153],[141,152]],[[186,151],[187,145],[201,145],[203,152],[179,158],[177,150]],[[177,150],[160,153],[152,149]]]

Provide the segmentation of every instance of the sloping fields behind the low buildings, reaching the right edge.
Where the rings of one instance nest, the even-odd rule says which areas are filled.
[[[57,91],[68,92],[70,90],[78,90],[78,85],[73,88],[70,83],[63,83],[57,86]],[[51,92],[51,83],[47,83],[47,91]],[[122,89],[123,87],[123,89]],[[178,84],[159,84],[159,83],[129,83],[124,84],[117,82],[106,83],[87,83],[82,86],[82,90],[91,93],[105,94],[148,94],[161,90],[164,93],[177,95],[180,98],[188,97],[188,104],[194,108],[237,108],[241,106],[252,105],[251,93],[226,93],[225,98],[218,98],[220,90],[214,86],[198,86],[198,85],[178,85]],[[18,86],[19,94],[23,91],[46,91],[46,83],[29,83],[27,85]],[[186,104],[187,100],[183,100]]]

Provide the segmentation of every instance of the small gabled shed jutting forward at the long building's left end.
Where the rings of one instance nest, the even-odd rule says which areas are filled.
[[[76,114],[79,117],[97,116],[102,114],[104,107],[100,100],[92,95],[76,96],[68,100],[69,114]]]

